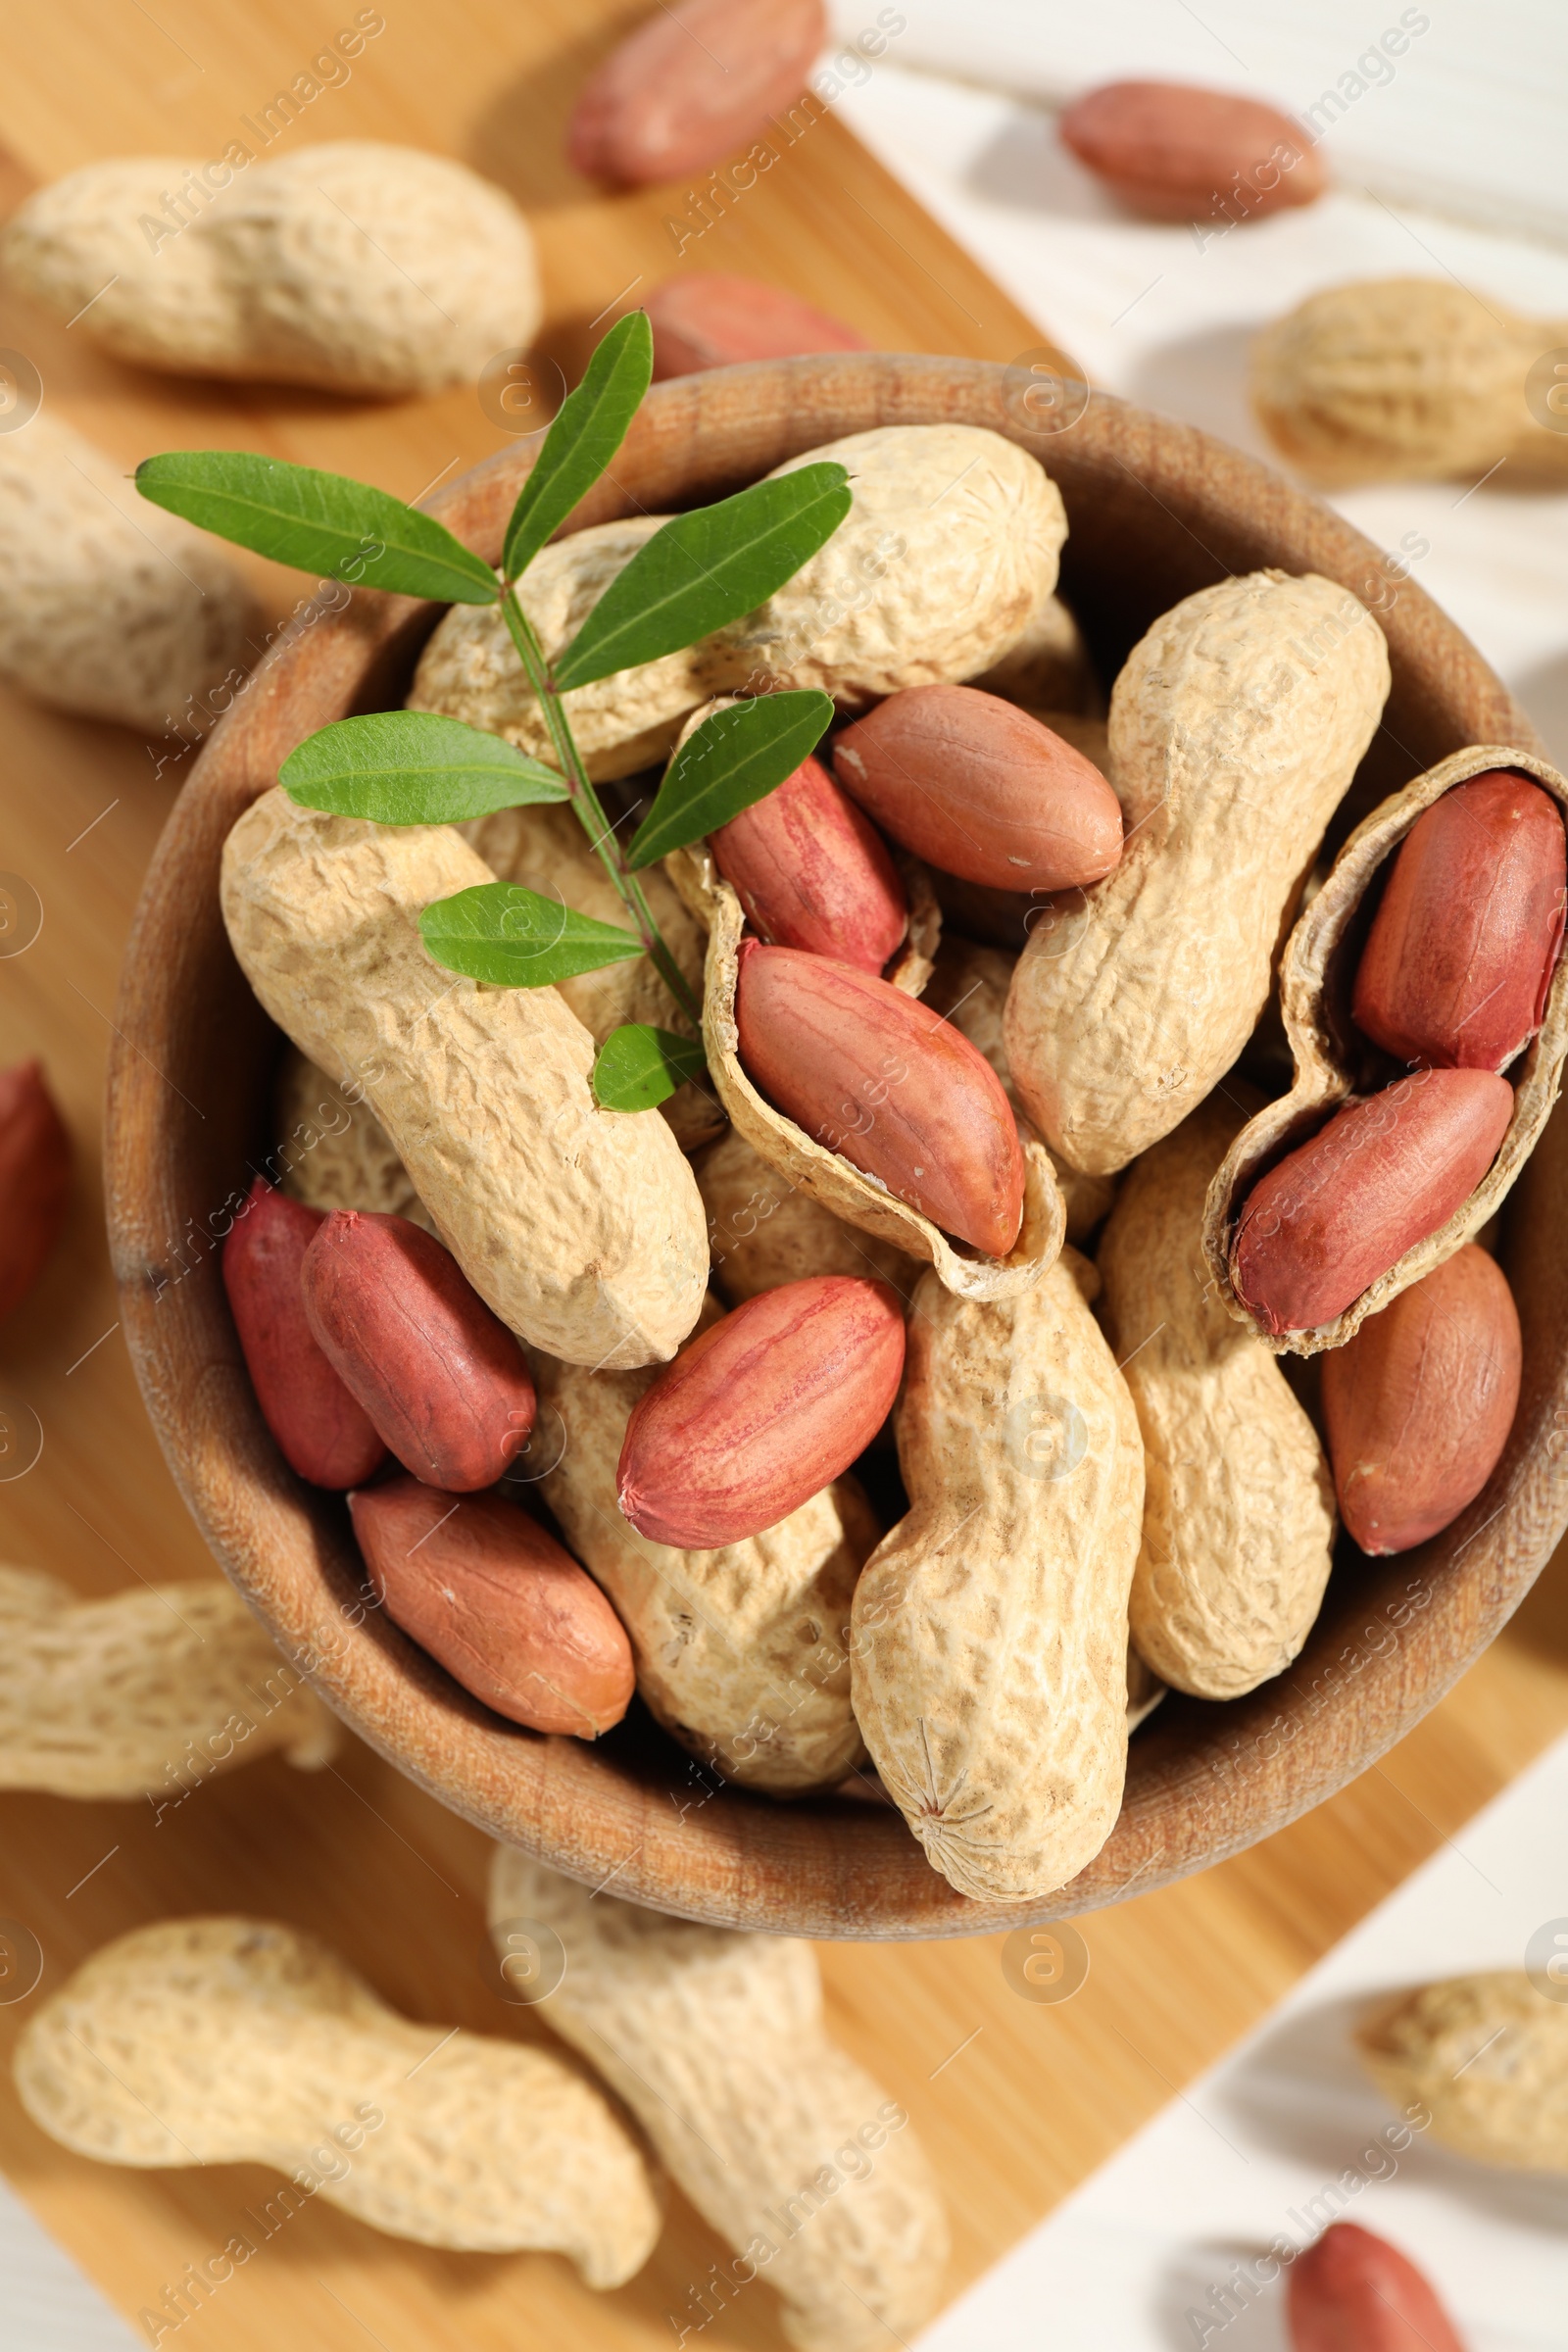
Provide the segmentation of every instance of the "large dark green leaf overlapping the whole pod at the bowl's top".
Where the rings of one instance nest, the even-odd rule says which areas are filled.
[[[755,612],[832,539],[853,506],[842,466],[802,466],[675,515],[618,572],[555,663],[557,687],[661,661]]]

